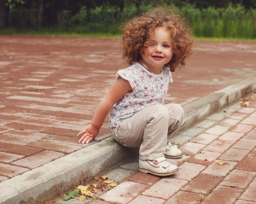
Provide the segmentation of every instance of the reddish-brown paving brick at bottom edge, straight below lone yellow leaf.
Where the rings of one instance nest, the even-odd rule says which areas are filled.
[[[242,189],[217,186],[202,204],[225,203],[232,204],[243,193]]]

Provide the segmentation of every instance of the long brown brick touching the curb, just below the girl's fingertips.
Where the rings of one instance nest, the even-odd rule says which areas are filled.
[[[82,148],[82,146],[75,146],[70,144],[67,145],[67,144],[58,143],[54,141],[47,141],[47,140],[32,142],[32,143],[29,143],[28,146],[38,147],[44,150],[59,151],[64,153],[72,153]]]

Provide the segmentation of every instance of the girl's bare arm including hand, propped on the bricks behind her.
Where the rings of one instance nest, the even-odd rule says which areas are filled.
[[[94,140],[94,138],[100,132],[100,128],[113,105],[131,90],[133,90],[133,88],[131,88],[131,85],[127,80],[121,77],[115,80],[114,84],[101,101],[100,105],[98,105],[90,125],[76,135],[77,137],[82,135],[82,137],[79,139],[79,143],[88,144],[90,141]]]

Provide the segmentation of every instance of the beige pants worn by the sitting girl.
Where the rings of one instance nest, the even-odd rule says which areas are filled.
[[[121,145],[141,146],[139,159],[154,160],[163,156],[167,139],[180,126],[183,117],[184,111],[179,104],[156,104],[135,113],[111,131]]]

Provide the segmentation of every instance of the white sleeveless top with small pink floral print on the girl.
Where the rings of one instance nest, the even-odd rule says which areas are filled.
[[[141,64],[135,62],[126,69],[117,72],[129,81],[133,92],[127,92],[113,105],[109,113],[109,126],[115,128],[126,118],[154,104],[164,104],[163,97],[167,94],[168,85],[172,82],[171,71],[163,67],[158,75],[150,73]]]

